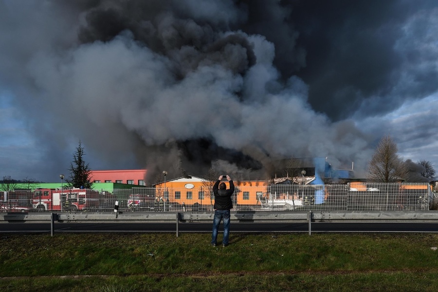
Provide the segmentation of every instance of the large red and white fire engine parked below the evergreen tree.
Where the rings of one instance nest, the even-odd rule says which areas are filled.
[[[92,211],[98,205],[99,192],[89,189],[37,189],[32,196],[38,211]]]

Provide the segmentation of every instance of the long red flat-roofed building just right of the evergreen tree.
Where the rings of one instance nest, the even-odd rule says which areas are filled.
[[[146,172],[145,169],[92,170],[91,181],[95,183],[115,182],[144,186]]]

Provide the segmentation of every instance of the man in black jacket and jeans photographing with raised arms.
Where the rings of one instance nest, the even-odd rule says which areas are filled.
[[[223,220],[223,240],[222,246],[228,245],[228,237],[230,234],[230,209],[233,209],[233,201],[231,195],[234,193],[234,182],[229,175],[226,175],[227,180],[230,182],[230,188],[227,190],[227,186],[224,182],[220,182],[225,175],[220,175],[219,179],[213,186],[213,194],[215,195],[215,218],[213,219],[213,232],[211,234],[211,245],[216,246],[216,240],[218,237],[218,229],[220,221]],[[220,183],[220,184],[219,184]]]

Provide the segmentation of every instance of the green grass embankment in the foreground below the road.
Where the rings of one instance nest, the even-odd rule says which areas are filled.
[[[437,291],[438,234],[2,234],[2,291]],[[220,238],[219,238],[220,239]]]

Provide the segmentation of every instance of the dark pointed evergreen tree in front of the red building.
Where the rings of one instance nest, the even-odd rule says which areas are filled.
[[[84,187],[85,189],[91,189],[92,187],[91,170],[88,163],[85,164],[84,155],[84,148],[81,146],[81,141],[79,141],[76,153],[73,154],[73,162],[70,163],[70,179],[66,179],[69,188]]]

